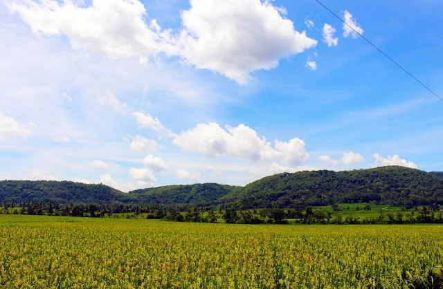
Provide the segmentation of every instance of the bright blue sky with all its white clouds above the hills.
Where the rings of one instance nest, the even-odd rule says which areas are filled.
[[[442,1],[326,6],[443,95]],[[443,102],[316,1],[0,0],[0,178],[443,170]]]

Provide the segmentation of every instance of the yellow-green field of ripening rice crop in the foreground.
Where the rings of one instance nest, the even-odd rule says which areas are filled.
[[[3,288],[441,288],[439,225],[0,216]]]

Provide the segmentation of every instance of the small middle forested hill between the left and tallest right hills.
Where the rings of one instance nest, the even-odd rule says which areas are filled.
[[[144,204],[162,205],[216,205],[217,200],[229,194],[235,186],[219,185],[215,183],[195,185],[169,185],[138,189],[129,192],[136,194],[138,201]]]

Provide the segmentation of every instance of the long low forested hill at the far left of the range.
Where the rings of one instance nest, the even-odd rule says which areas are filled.
[[[0,181],[0,202],[23,201],[46,203],[132,203],[136,199],[105,185],[87,185],[54,180]]]

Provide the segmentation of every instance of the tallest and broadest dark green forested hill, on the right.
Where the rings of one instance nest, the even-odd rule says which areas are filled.
[[[262,178],[219,201],[243,209],[370,201],[410,207],[443,203],[443,179],[406,167],[301,171]]]

